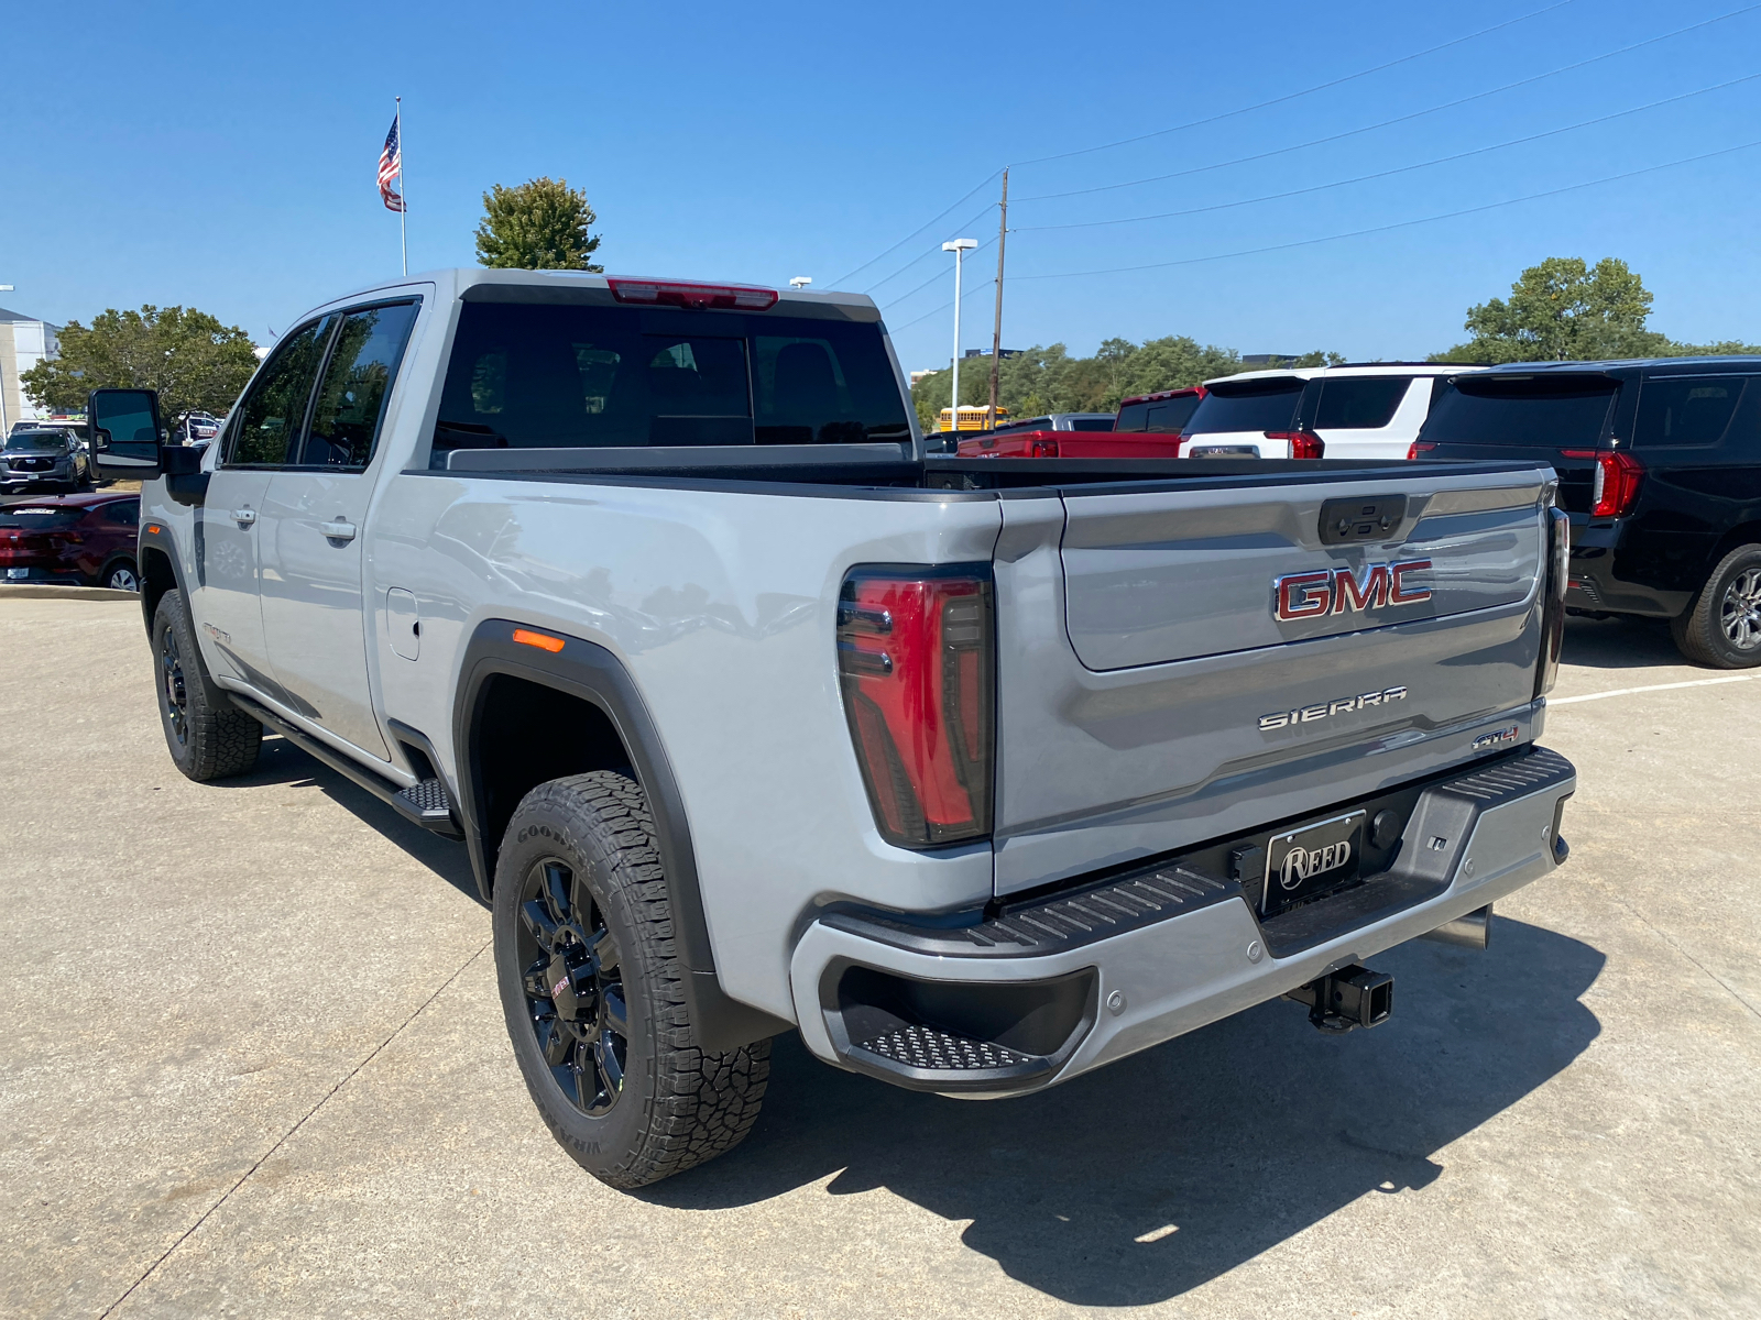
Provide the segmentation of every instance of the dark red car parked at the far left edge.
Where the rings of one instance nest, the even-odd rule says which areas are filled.
[[[139,495],[55,495],[0,509],[0,581],[139,591]]]

